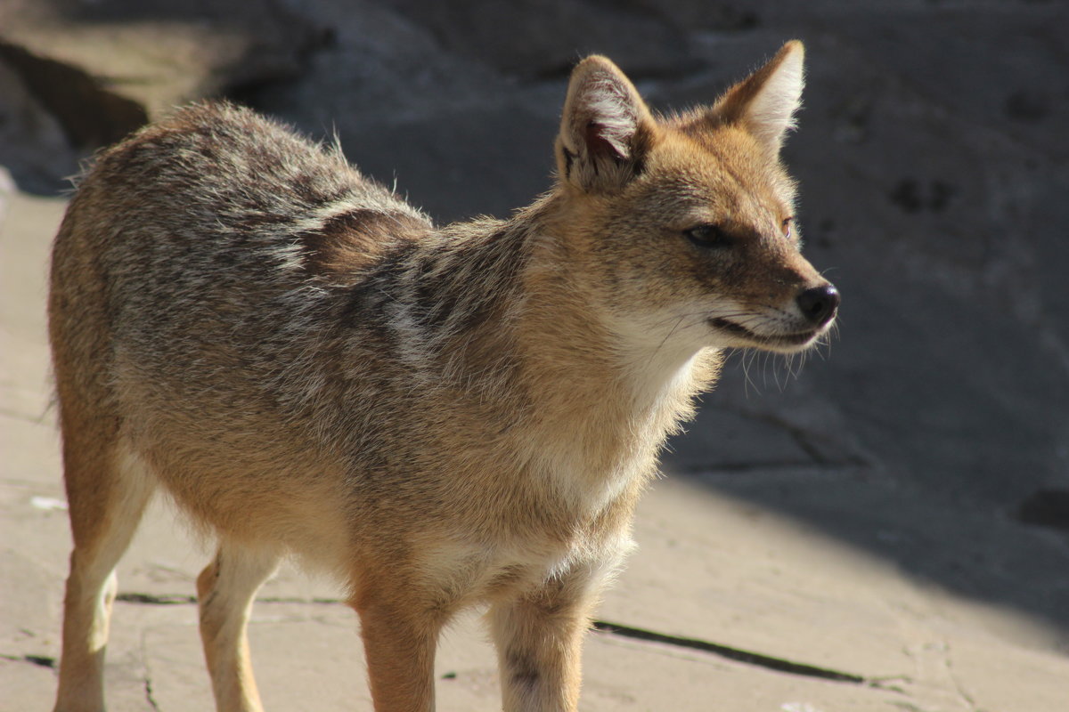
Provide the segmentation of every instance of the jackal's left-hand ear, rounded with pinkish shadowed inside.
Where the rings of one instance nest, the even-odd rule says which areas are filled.
[[[604,57],[572,70],[557,137],[561,181],[586,191],[617,190],[641,173],[654,121],[634,84]]]

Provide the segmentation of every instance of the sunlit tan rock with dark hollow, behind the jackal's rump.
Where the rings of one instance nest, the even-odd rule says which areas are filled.
[[[313,27],[272,0],[7,0],[0,81],[13,74],[20,88],[0,95],[0,163],[24,188],[52,192],[77,170],[72,149],[91,153],[192,99],[296,76],[324,39]]]

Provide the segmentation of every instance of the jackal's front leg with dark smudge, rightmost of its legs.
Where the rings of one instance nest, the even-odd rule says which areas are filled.
[[[578,709],[583,637],[600,587],[571,574],[491,608],[506,712]]]

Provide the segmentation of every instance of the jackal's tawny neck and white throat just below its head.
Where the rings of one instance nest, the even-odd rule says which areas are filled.
[[[651,345],[614,321],[604,308],[608,285],[576,263],[571,225],[556,207],[547,197],[520,215],[527,222],[514,328],[522,385],[549,439],[592,446],[594,455],[601,447],[608,460],[629,450],[652,457],[711,385],[719,354]]]

